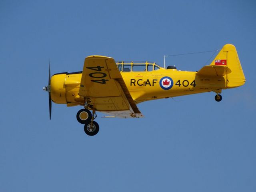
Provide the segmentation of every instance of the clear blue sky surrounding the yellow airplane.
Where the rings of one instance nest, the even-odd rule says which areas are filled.
[[[256,190],[256,3],[237,1],[0,2],[0,191]],[[53,104],[52,74],[84,58],[149,60],[237,48],[246,84],[138,105],[143,119],[98,117],[89,137],[80,107]],[[197,71],[212,53],[166,58]],[[98,114],[102,116],[102,114]]]

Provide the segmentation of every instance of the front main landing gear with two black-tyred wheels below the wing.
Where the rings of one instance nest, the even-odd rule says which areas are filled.
[[[76,119],[84,124],[84,132],[89,136],[94,136],[99,132],[100,126],[94,121],[96,117],[95,109],[92,110],[92,113],[88,109],[81,109],[76,114]]]

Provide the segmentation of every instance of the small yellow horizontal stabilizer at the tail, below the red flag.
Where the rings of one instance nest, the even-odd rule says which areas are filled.
[[[231,70],[226,66],[221,65],[206,65],[201,68],[196,75],[200,76],[224,76],[229,74]]]

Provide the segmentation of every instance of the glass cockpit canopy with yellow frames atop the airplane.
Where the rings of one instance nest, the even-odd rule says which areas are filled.
[[[133,61],[117,61],[116,65],[120,72],[146,72],[156,71],[160,67],[155,62],[133,62]]]

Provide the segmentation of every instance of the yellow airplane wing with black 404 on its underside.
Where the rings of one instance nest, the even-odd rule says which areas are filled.
[[[121,118],[143,117],[113,58],[88,56],[84,61],[79,95],[90,108]]]

